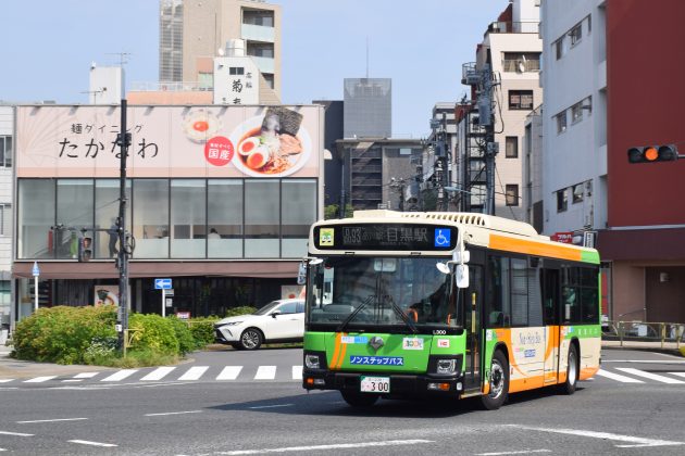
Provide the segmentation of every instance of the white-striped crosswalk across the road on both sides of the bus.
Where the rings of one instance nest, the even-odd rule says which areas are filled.
[[[677,369],[677,368],[676,368]],[[190,382],[190,381],[288,381],[302,380],[302,366],[162,366],[116,371],[84,371],[68,376],[40,376],[28,379],[0,378],[0,389],[17,384],[96,383],[116,384],[124,382]],[[626,384],[673,384],[685,385],[685,370],[650,371],[632,367],[601,368],[593,382]]]

